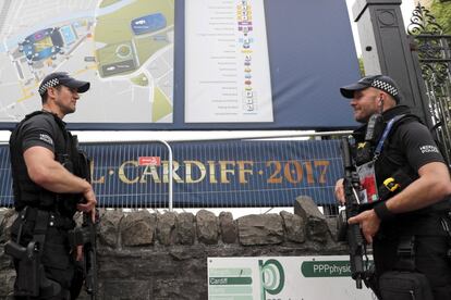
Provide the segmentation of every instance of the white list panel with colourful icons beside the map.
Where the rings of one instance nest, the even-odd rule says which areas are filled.
[[[185,1],[185,122],[273,122],[263,0]]]

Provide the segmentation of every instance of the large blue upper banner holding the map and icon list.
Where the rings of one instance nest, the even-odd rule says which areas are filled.
[[[4,0],[0,15],[0,129],[40,109],[56,71],[92,83],[72,129],[356,125],[345,0]]]

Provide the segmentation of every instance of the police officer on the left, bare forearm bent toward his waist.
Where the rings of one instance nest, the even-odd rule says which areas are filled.
[[[16,299],[75,299],[80,292],[74,257],[81,258],[81,249],[71,249],[68,233],[76,211],[94,217],[97,201],[92,185],[77,176],[75,138],[62,118],[75,112],[78,93],[89,85],[63,72],[48,75],[38,89],[42,110],[28,114],[11,135],[19,216],[5,252],[14,258]]]

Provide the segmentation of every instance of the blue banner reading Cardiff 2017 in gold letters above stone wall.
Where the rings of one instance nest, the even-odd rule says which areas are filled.
[[[101,207],[167,208],[168,149],[159,143],[83,145]],[[309,196],[336,203],[338,140],[171,143],[174,208],[292,207]],[[0,147],[2,205],[11,205],[9,149]]]

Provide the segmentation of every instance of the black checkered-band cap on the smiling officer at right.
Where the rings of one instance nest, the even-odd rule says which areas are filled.
[[[354,91],[374,87],[389,93],[394,98],[397,103],[401,101],[401,93],[398,84],[385,75],[371,75],[359,79],[357,83],[340,88],[340,92],[344,98],[353,98]]]

